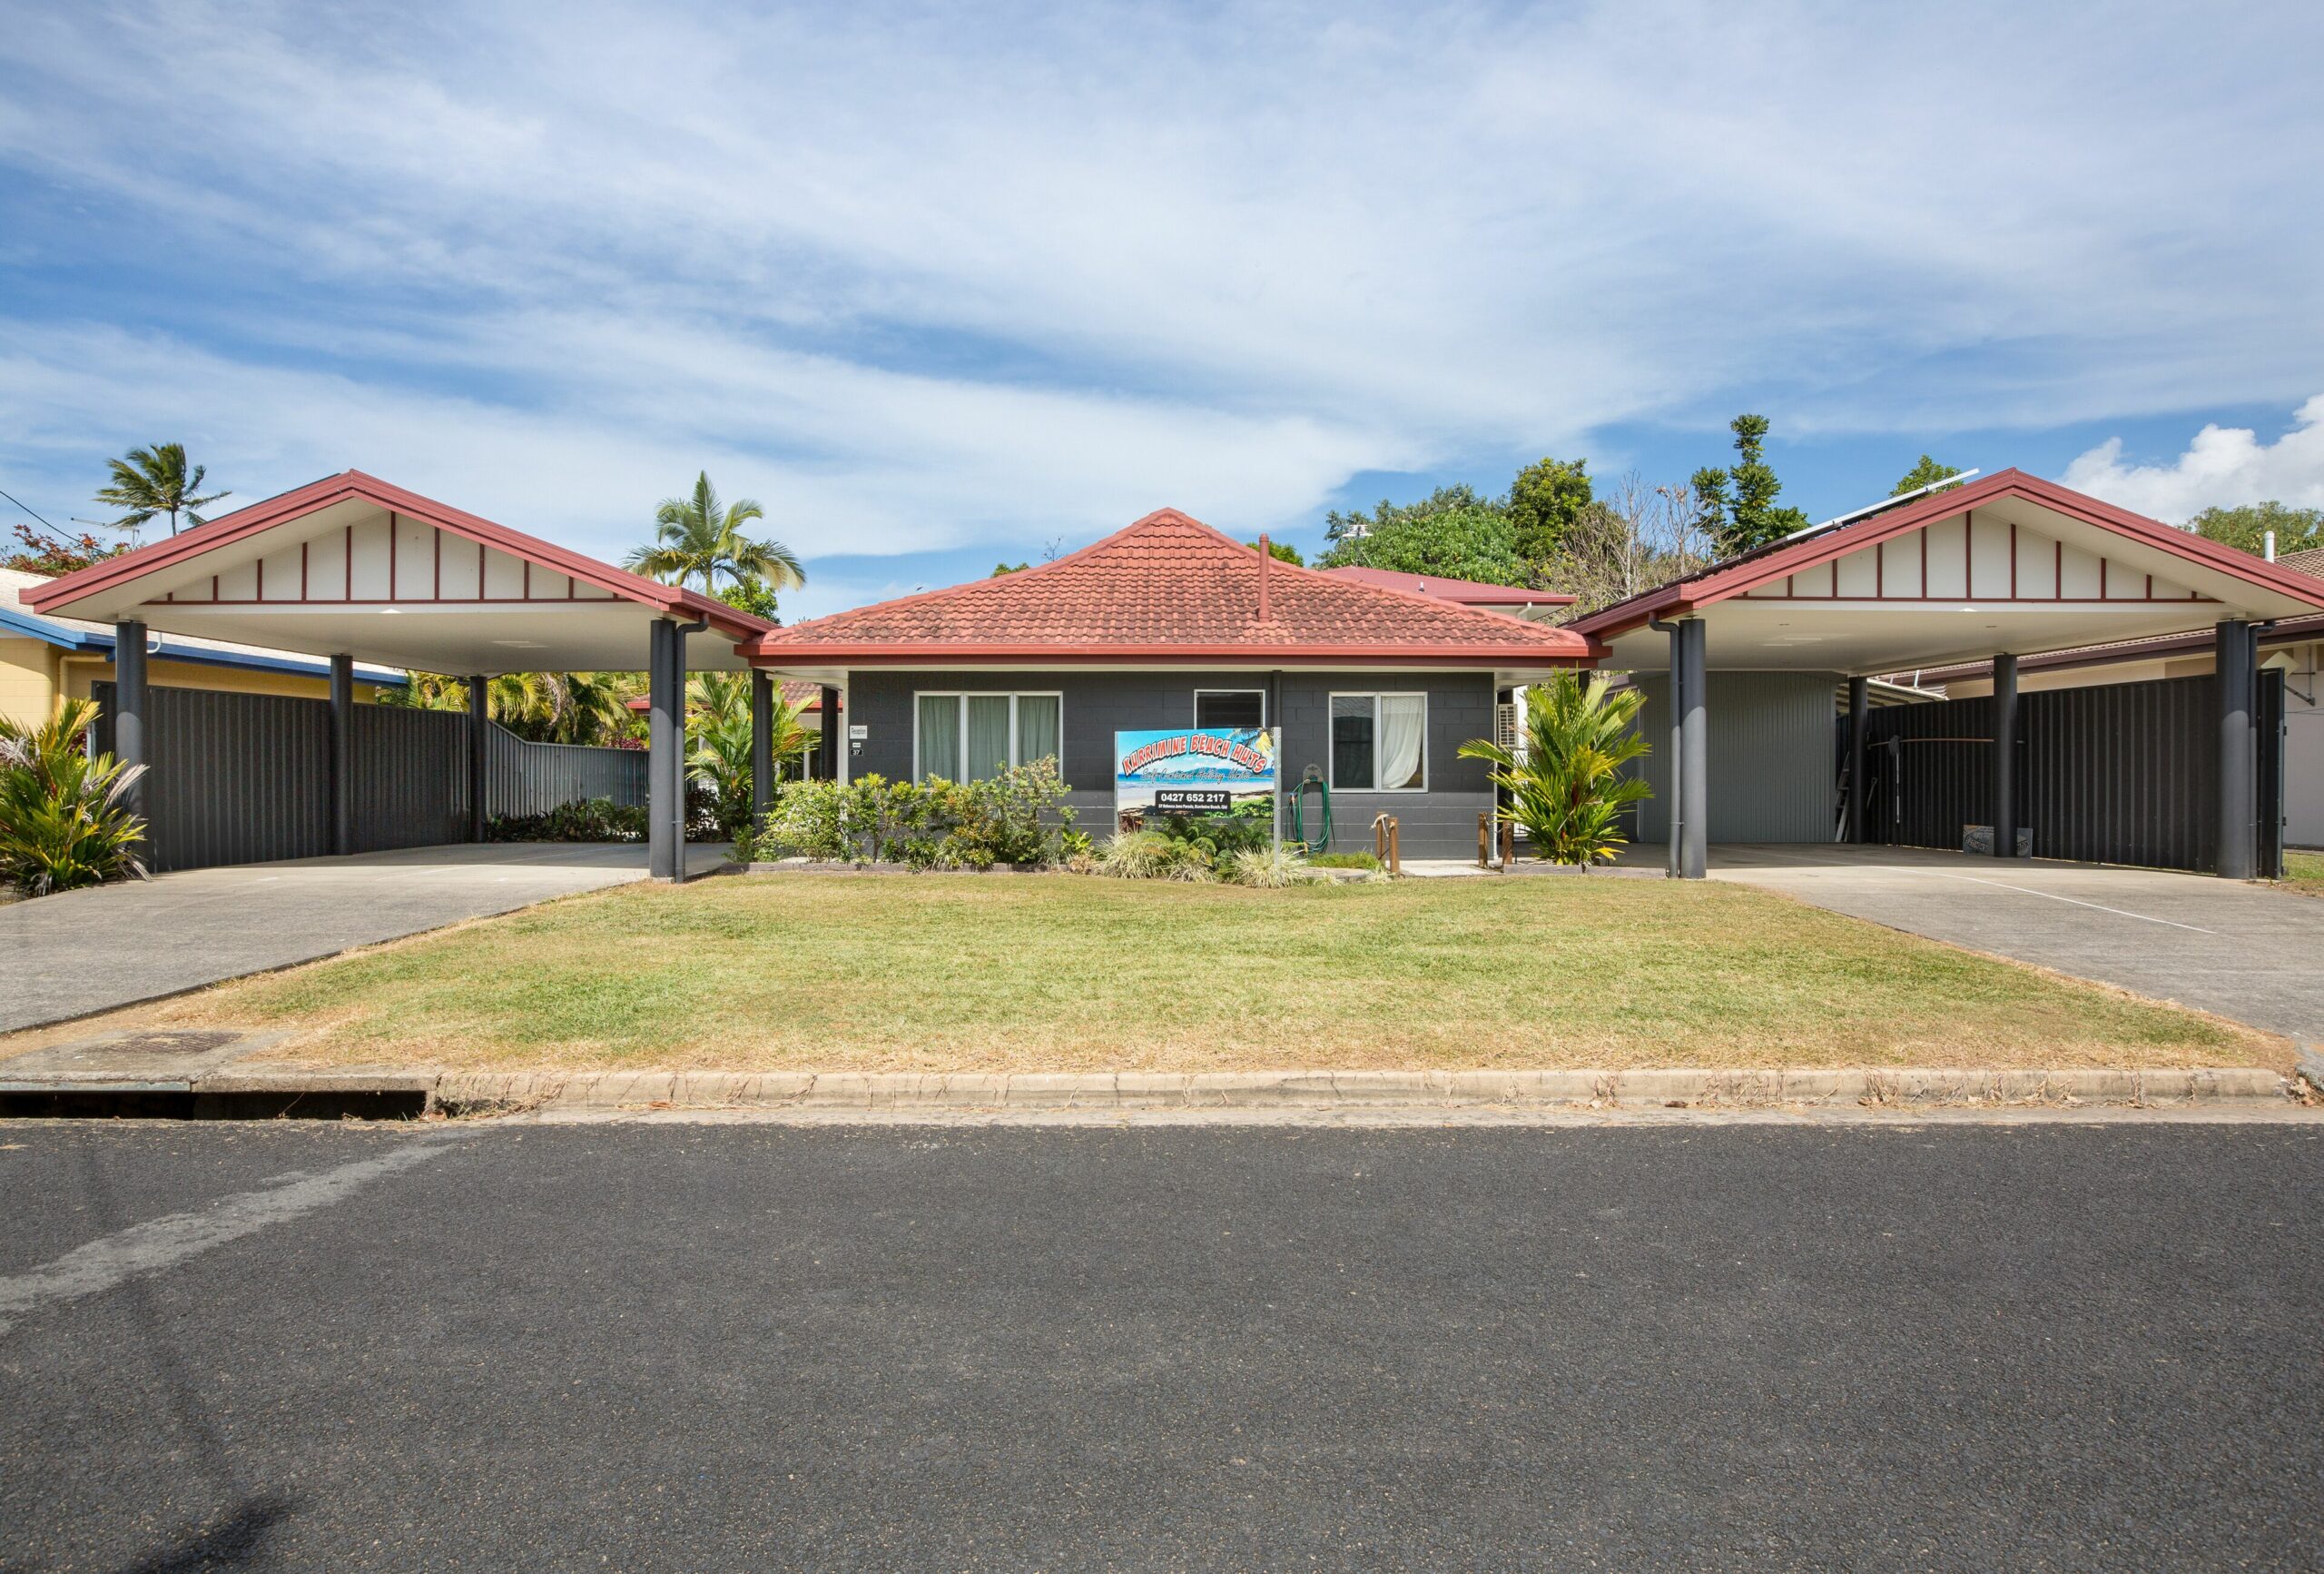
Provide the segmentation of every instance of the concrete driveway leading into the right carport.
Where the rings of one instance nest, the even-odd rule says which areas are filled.
[[[1715,846],[1710,877],[2324,1039],[2317,897],[2210,874],[1903,846]]]

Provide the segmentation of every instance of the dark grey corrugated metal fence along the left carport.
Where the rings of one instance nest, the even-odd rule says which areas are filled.
[[[114,686],[93,688],[98,749],[112,751]],[[330,853],[330,704],[207,688],[149,688],[146,863],[207,870]],[[467,839],[467,716],[358,704],[349,739],[353,851]],[[500,723],[486,742],[486,809],[646,800],[634,749],[528,744]]]

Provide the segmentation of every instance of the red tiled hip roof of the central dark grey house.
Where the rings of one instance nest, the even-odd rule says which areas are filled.
[[[1264,600],[1264,616],[1262,616]],[[1564,628],[1276,563],[1178,509],[997,579],[839,611],[737,646],[765,665],[1385,660],[1564,665]]]

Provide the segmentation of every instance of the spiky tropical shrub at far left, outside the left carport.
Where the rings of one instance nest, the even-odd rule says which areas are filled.
[[[146,877],[144,821],[121,807],[144,765],[91,758],[95,718],[91,700],[65,700],[40,725],[0,716],[0,879],[23,895]]]

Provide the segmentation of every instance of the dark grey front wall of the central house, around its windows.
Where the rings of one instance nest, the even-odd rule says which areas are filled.
[[[1332,693],[1425,693],[1429,758],[1425,793],[1334,793],[1332,849],[1369,851],[1371,818],[1394,814],[1406,858],[1473,858],[1476,816],[1492,807],[1485,765],[1455,758],[1471,737],[1492,737],[1490,672],[853,672],[848,723],[867,728],[848,774],[911,777],[916,691],[1064,695],[1064,779],[1081,825],[1104,837],[1113,821],[1113,735],[1195,725],[1197,688],[1271,688],[1267,721],[1283,728],[1283,784],[1306,765],[1327,767]]]

